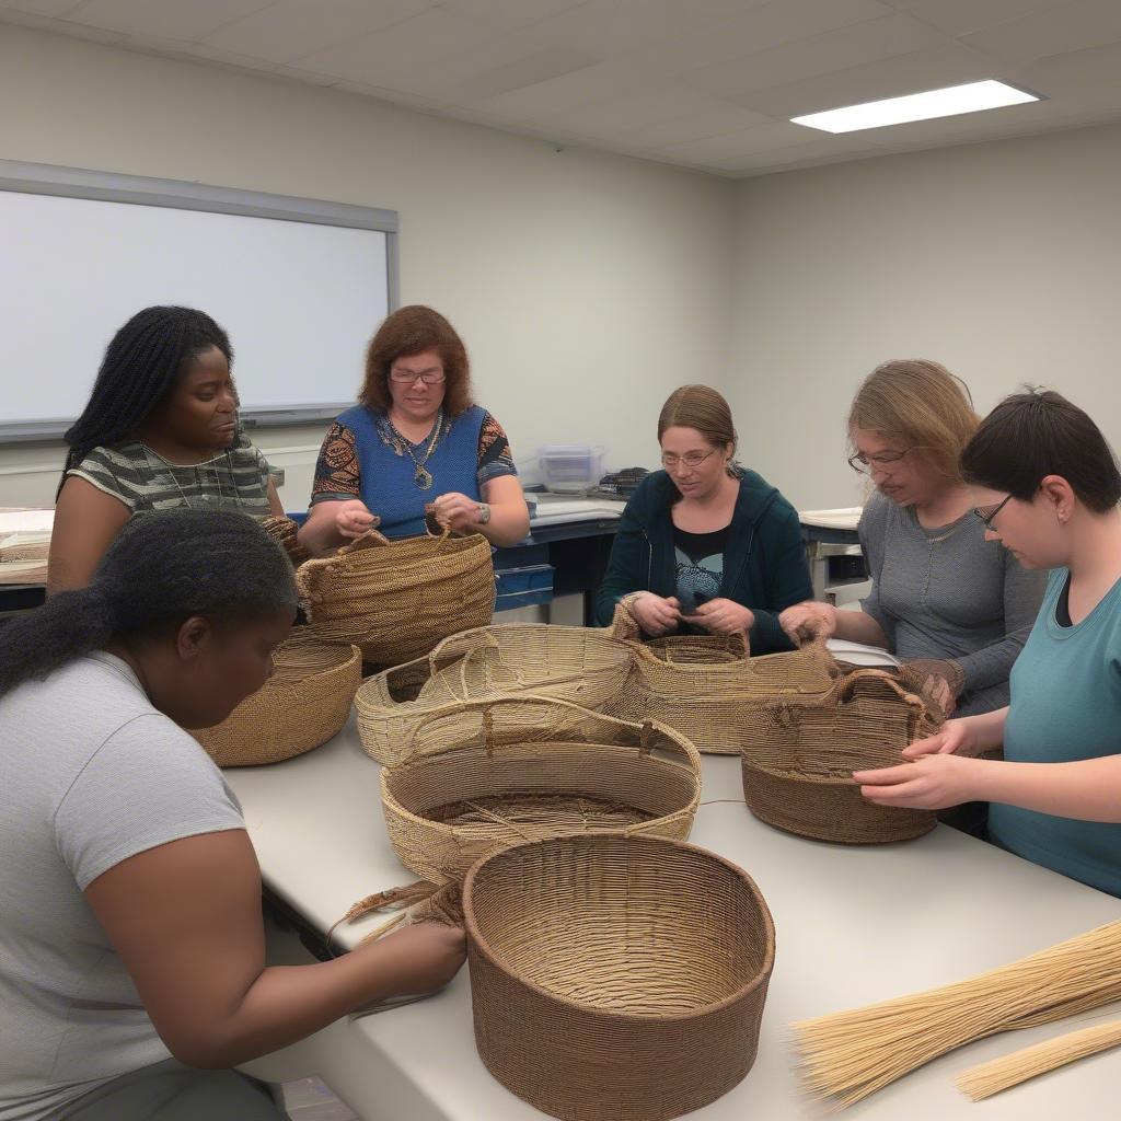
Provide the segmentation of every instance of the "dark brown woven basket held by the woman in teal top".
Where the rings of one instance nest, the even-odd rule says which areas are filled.
[[[818,841],[908,841],[934,828],[926,809],[877,806],[854,770],[891,767],[915,740],[934,734],[942,713],[879,669],[858,669],[819,698],[784,697],[756,710],[743,745],[743,797],[769,825]]]

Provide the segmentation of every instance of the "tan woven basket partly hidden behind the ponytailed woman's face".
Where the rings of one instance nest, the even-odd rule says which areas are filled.
[[[256,767],[311,751],[346,723],[362,679],[356,647],[296,634],[272,656],[263,688],[213,728],[191,734],[219,767]]]

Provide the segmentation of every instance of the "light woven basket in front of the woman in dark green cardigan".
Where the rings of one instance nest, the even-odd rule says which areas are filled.
[[[780,696],[824,696],[840,673],[824,641],[761,658],[750,657],[745,634],[643,642],[622,604],[611,632],[633,649],[634,668],[606,711],[627,720],[657,720],[712,754],[740,753],[752,706]]]

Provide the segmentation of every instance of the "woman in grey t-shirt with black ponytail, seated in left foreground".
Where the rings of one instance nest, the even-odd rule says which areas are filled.
[[[179,509],[0,623],[0,1118],[280,1121],[231,1067],[462,964],[424,924],[265,963],[241,807],[184,729],[265,684],[295,612],[260,526]]]

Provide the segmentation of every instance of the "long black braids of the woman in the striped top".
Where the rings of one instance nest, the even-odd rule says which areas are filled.
[[[146,307],[113,335],[90,400],[63,437],[70,444],[63,478],[95,447],[123,439],[172,388],[183,367],[216,346],[230,363],[226,333],[192,307]],[[61,484],[59,484],[61,489]]]

